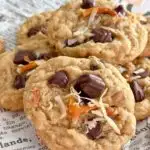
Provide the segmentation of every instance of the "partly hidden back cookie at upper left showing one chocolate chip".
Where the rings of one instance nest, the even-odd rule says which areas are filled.
[[[27,19],[20,26],[17,32],[17,45],[19,49],[34,50],[34,49],[49,49],[47,38],[47,23],[51,18],[52,12],[43,12],[34,15]]]

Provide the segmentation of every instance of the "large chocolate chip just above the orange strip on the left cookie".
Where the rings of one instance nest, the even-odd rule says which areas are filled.
[[[16,53],[14,58],[15,64],[27,64],[28,62],[25,61],[25,56],[27,56],[30,60],[36,60],[36,55],[31,51],[19,51]]]

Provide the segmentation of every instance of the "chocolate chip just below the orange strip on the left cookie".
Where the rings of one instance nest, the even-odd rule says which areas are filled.
[[[21,89],[25,87],[27,77],[26,75],[17,75],[14,81],[14,88]]]

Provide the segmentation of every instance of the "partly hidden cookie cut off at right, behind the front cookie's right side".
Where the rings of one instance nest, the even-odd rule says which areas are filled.
[[[150,116],[150,59],[138,58],[123,73],[135,97],[135,117],[143,120]]]

